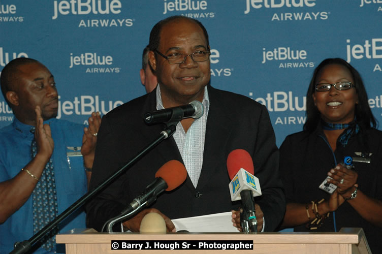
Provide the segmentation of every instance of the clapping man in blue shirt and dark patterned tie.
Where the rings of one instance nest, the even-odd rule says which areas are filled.
[[[0,130],[0,253],[8,253],[16,241],[29,239],[86,193],[91,173],[85,170],[93,165],[101,117],[92,113],[88,128],[56,119],[54,77],[35,59],[10,61],[0,84],[15,116]],[[33,250],[65,251],[65,246],[55,244],[54,235],[73,228],[85,228],[82,209]]]

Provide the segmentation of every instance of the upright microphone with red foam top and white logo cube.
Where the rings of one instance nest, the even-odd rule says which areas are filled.
[[[232,181],[229,184],[231,201],[241,200],[241,227],[244,232],[257,232],[257,219],[253,197],[261,196],[259,179],[253,176],[253,161],[243,149],[235,149],[227,158],[228,174]]]

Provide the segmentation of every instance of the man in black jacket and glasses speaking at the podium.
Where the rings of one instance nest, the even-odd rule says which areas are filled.
[[[209,85],[208,34],[197,20],[173,16],[158,22],[151,30],[149,48],[149,63],[159,85],[103,117],[90,189],[163,131],[163,124],[145,124],[146,112],[197,100],[203,104],[204,114],[198,119],[182,119],[172,137],[158,144],[91,200],[86,209],[88,227],[100,231],[105,221],[139,196],[153,181],[155,172],[170,160],[185,165],[188,173],[185,182],[158,197],[151,209],[124,221],[124,230],[138,232],[149,211],[160,213],[167,230],[175,231],[171,219],[237,209],[240,204],[232,203],[230,198],[226,161],[232,150],[241,148],[251,154],[254,173],[261,183],[263,195],[256,200],[261,209],[256,212],[264,213],[263,230],[273,231],[283,217],[285,200],[278,177],[278,149],[265,106]],[[262,217],[258,219],[263,221]]]

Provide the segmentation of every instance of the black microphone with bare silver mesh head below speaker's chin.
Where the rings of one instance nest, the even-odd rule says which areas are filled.
[[[199,101],[190,102],[187,105],[147,112],[144,116],[146,123],[168,122],[175,118],[192,117],[198,119],[204,114],[203,104]],[[180,120],[179,119],[179,120]]]

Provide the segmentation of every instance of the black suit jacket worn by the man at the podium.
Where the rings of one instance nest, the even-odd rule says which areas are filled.
[[[210,108],[207,118],[203,167],[195,188],[187,179],[171,192],[164,192],[152,207],[171,219],[198,216],[236,209],[240,201],[231,202],[227,156],[234,149],[247,150],[254,163],[254,174],[260,179],[262,196],[256,199],[264,212],[265,231],[273,231],[281,221],[285,199],[278,175],[279,153],[265,106],[239,94],[208,86]],[[141,149],[155,140],[163,124],[146,125],[143,115],[156,110],[155,90],[125,103],[102,119],[90,188]],[[87,205],[87,224],[101,230],[113,217],[139,196],[154,180],[155,172],[166,162],[181,155],[173,137],[146,154],[132,168],[107,187]]]

